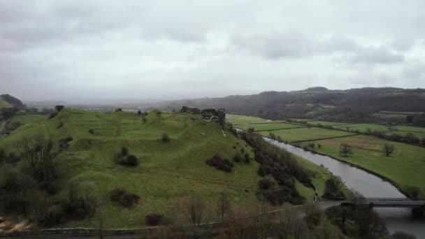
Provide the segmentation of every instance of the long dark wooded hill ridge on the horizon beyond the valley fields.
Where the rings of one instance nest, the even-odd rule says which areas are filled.
[[[267,119],[309,118],[343,122],[425,124],[425,89],[394,87],[329,90],[312,87],[293,92],[167,101],[154,107],[226,108],[227,113]]]

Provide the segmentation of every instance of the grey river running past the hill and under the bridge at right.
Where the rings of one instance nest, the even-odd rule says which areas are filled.
[[[312,161],[317,165],[328,168],[333,175],[339,176],[350,189],[359,191],[366,198],[406,198],[391,183],[355,168],[331,157],[313,154],[285,143],[280,143],[270,138],[265,138],[269,143],[296,154],[304,159]],[[413,234],[417,238],[425,238],[425,220],[413,219],[409,208],[375,208],[387,224],[388,231],[392,234],[396,231],[404,231]]]

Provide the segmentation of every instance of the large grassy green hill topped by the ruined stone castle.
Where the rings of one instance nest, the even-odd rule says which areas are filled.
[[[89,133],[89,129],[94,133]],[[168,134],[170,142],[161,141],[162,133]],[[242,140],[229,132],[225,138],[213,122],[194,121],[179,113],[157,116],[155,112],[143,122],[135,113],[64,109],[52,119],[38,119],[20,126],[0,140],[0,147],[14,148],[21,138],[31,134],[47,135],[54,140],[55,148],[60,139],[73,138],[70,147],[57,156],[62,162],[62,176],[55,183],[59,191],[54,200],[64,200],[72,182],[94,182],[105,205],[108,227],[138,228],[144,224],[144,216],[153,212],[178,214],[179,205],[194,196],[214,203],[224,192],[230,201],[241,205],[255,198],[259,181],[256,162],[235,163],[231,173],[206,164],[206,159],[216,154],[231,160],[242,149],[253,156]],[[138,166],[114,164],[113,157],[121,146],[128,147],[138,157]],[[110,191],[117,186],[141,196],[141,201],[132,208],[110,201]],[[96,220],[89,218],[62,226],[94,227],[95,224]]]

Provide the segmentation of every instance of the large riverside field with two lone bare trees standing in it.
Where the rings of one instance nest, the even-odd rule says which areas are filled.
[[[307,145],[305,142],[302,145]],[[317,152],[328,154],[343,161],[368,168],[396,182],[401,189],[416,186],[421,189],[421,198],[425,198],[425,148],[404,143],[391,142],[373,136],[351,136],[328,140],[316,140],[314,143],[322,145],[315,148]],[[342,157],[339,153],[341,143],[353,147],[353,154]],[[391,157],[382,153],[382,145],[394,145],[396,150]]]

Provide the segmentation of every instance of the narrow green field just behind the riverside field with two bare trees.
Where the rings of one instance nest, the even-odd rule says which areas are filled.
[[[321,128],[301,128],[301,129],[283,129],[271,131],[276,136],[280,136],[282,140],[288,142],[301,141],[301,140],[318,140],[322,138],[333,138],[340,136],[353,135],[351,132],[336,131],[331,129]],[[259,131],[263,136],[268,136],[268,131]]]

